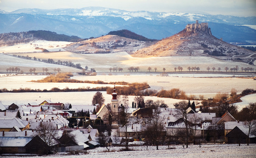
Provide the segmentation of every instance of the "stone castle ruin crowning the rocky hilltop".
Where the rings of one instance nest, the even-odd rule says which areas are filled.
[[[187,24],[186,32],[198,33],[200,31],[206,32],[208,35],[212,36],[211,28],[208,27],[208,23],[198,23],[196,20],[195,24]]]

